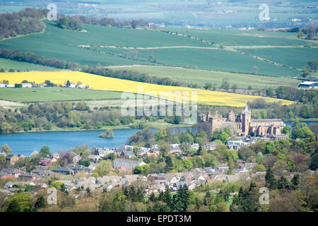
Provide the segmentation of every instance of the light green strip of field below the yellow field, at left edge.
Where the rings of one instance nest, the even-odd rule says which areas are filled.
[[[0,88],[0,99],[15,102],[113,100],[122,93],[76,88]]]

